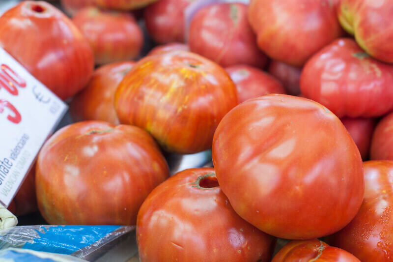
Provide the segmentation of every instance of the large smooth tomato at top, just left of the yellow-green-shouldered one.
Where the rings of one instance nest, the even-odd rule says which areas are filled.
[[[342,35],[337,0],[252,0],[249,21],[271,58],[301,66]]]

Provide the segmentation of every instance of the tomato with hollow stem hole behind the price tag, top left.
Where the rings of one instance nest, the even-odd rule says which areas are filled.
[[[0,17],[0,46],[61,99],[80,91],[94,68],[93,52],[60,10],[22,1]]]

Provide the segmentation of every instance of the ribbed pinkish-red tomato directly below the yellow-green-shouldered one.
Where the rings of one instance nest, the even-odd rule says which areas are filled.
[[[338,117],[377,117],[393,109],[393,66],[368,57],[349,38],[337,39],[303,68],[305,97]]]

